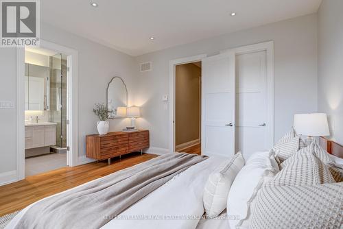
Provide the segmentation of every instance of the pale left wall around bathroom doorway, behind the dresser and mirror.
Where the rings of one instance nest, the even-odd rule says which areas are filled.
[[[97,132],[93,105],[106,102],[106,87],[111,77],[123,77],[132,101],[134,58],[48,25],[41,25],[40,34],[43,40],[78,51],[78,153],[84,156],[85,135]],[[16,104],[16,49],[0,48],[0,69],[0,100]],[[9,171],[16,171],[16,109],[0,109],[0,117],[1,183]],[[128,123],[129,119],[115,119],[110,121],[110,130],[120,130]]]

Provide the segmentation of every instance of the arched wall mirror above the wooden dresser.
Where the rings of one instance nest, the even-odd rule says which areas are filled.
[[[112,111],[108,115],[109,119],[125,117],[120,108],[128,106],[128,89],[121,77],[115,76],[108,83],[106,101],[108,110]]]

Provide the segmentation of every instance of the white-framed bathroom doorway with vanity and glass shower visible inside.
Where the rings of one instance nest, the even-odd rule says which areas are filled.
[[[47,63],[49,66],[47,72],[49,74],[56,75],[54,80],[51,75],[49,80],[44,82],[44,99],[39,99],[39,106],[37,102],[32,99],[25,100],[25,73],[29,74],[25,69],[25,48],[17,49],[17,117],[18,117],[18,136],[17,136],[17,179],[23,180],[25,178],[25,148],[41,148],[42,152],[47,152],[46,149],[52,149],[52,146],[57,147],[67,151],[64,154],[66,160],[63,159],[67,166],[78,165],[78,51],[57,45],[55,43],[50,43],[46,40],[40,40],[39,48],[32,48],[36,50],[31,50],[36,54],[40,51],[47,51],[48,53],[45,58],[38,58],[36,63],[31,63],[35,65],[42,65],[42,62]],[[29,49],[27,49],[29,51]],[[35,55],[35,54],[34,54]],[[33,65],[32,65],[33,66]],[[26,70],[26,71],[25,71]],[[64,76],[62,79],[59,77]],[[62,73],[62,74],[61,74]],[[32,77],[35,77],[31,74]],[[62,85],[64,84],[64,85]],[[50,88],[47,90],[46,86],[49,85]],[[60,85],[60,86],[58,86]],[[34,91],[34,90],[31,90]],[[67,95],[65,94],[67,91]],[[27,92],[29,93],[29,92]],[[41,94],[41,91],[40,91]],[[50,97],[51,99],[48,99]],[[67,101],[66,101],[67,99]],[[64,100],[64,103],[63,101]],[[59,101],[59,102],[58,102]],[[29,103],[31,104],[31,110],[28,108]],[[36,104],[36,105],[34,105]],[[43,105],[42,105],[43,104]],[[43,108],[42,108],[43,107]],[[47,111],[44,108],[48,108],[51,111]],[[53,110],[54,109],[54,110]],[[30,114],[25,114],[31,112]],[[36,112],[35,112],[36,110]],[[53,120],[52,115],[46,115],[47,112],[56,112],[54,114],[55,119]],[[26,113],[27,113],[26,112]],[[58,112],[60,116],[58,116]],[[26,124],[31,123],[30,128],[25,128]],[[49,125],[44,125],[44,129],[34,124],[38,121],[38,125],[41,123],[47,123]],[[39,123],[40,122],[40,123]],[[52,125],[52,124],[53,125]],[[65,124],[67,123],[67,128]],[[28,125],[29,126],[29,125]],[[25,130],[27,129],[27,130]],[[44,131],[43,131],[44,130]],[[45,141],[45,134],[47,134],[47,141]],[[31,135],[31,136],[30,136]],[[30,139],[31,138],[31,139]],[[34,139],[32,139],[34,138]],[[40,141],[38,141],[39,139]],[[33,141],[34,140],[34,141]],[[43,143],[44,141],[44,143]],[[32,145],[34,144],[34,145]],[[64,145],[63,145],[64,144]],[[43,145],[43,146],[42,146]],[[51,147],[49,147],[51,146]],[[67,146],[67,147],[65,147]],[[45,150],[43,150],[45,148]],[[68,150],[69,149],[69,150]],[[38,153],[40,154],[40,153]],[[51,155],[51,154],[48,154]],[[35,156],[35,155],[31,155]],[[65,165],[65,164],[64,164]]]

